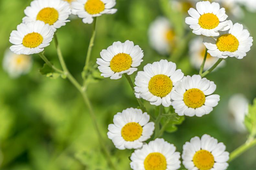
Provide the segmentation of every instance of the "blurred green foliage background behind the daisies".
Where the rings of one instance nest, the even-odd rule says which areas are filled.
[[[131,40],[144,50],[144,58],[139,70],[147,63],[160,59],[172,58],[161,56],[154,51],[148,41],[148,27],[157,16],[169,16],[178,20],[181,33],[192,35],[184,23],[187,13],[176,13],[164,9],[163,0],[117,0],[114,15],[98,17],[95,46],[92,52],[92,64],[96,62],[102,49],[114,41]],[[30,0],[0,1],[0,169],[3,170],[107,170],[107,163],[100,150],[97,135],[91,118],[78,91],[68,80],[50,79],[40,75],[43,61],[33,55],[33,68],[28,75],[11,79],[2,69],[5,50],[11,45],[9,36],[20,24],[24,9]],[[174,15],[175,14],[175,15]],[[233,22],[247,26],[251,36],[256,35],[256,13],[245,10],[245,17]],[[184,27],[183,27],[184,25]],[[92,32],[92,25],[83,24],[81,19],[73,18],[66,26],[58,30],[59,43],[64,59],[71,73],[82,81],[81,71],[85,61]],[[185,41],[186,42],[186,41]],[[255,43],[254,43],[255,44]],[[176,60],[177,67],[185,75],[197,74],[189,62],[187,44]],[[209,115],[186,117],[178,130],[172,134],[165,133],[163,138],[173,143],[182,152],[182,145],[195,135],[209,134],[223,142],[231,152],[246,140],[247,134],[237,133],[229,126],[228,99],[235,93],[244,94],[250,102],[256,96],[256,46],[242,60],[228,58],[226,66],[218,69],[208,79],[217,84],[216,94],[221,96],[219,104]],[[45,48],[45,55],[59,66],[54,43]],[[132,75],[134,79],[135,74]],[[105,78],[88,87],[88,94],[93,103],[97,121],[105,137],[105,145],[111,150],[117,169],[128,170],[130,150],[117,150],[112,141],[107,139],[108,124],[113,115],[128,107],[137,107],[125,78],[110,80]],[[145,102],[148,105],[147,102]],[[152,109],[152,107],[150,107]],[[228,170],[256,169],[256,148],[252,148],[235,161]]]

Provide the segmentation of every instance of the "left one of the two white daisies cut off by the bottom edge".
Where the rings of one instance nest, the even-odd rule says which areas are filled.
[[[156,138],[132,153],[133,170],[177,170],[181,167],[180,153],[173,144]]]

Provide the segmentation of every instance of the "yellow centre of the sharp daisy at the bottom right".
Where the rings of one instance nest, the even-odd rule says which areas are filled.
[[[193,157],[194,165],[200,170],[209,170],[214,165],[213,155],[206,150],[199,150]]]

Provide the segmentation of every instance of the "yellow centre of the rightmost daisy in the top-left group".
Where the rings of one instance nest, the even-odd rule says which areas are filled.
[[[99,14],[104,11],[105,4],[101,0],[88,0],[84,5],[84,9],[88,14]]]

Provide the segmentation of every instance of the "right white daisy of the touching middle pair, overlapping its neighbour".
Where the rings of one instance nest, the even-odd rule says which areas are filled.
[[[209,114],[219,101],[219,95],[212,95],[216,90],[214,82],[200,75],[184,76],[174,85],[174,89],[171,93],[172,106],[180,116],[201,117]]]

